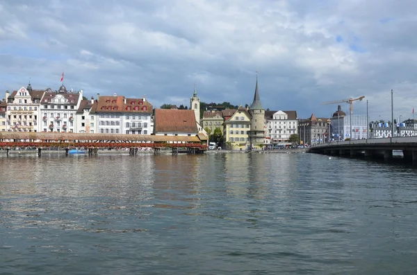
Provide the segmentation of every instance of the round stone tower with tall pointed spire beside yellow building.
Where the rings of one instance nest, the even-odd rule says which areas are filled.
[[[249,132],[250,147],[251,149],[259,149],[265,142],[265,109],[263,109],[261,99],[259,99],[257,73],[254,101],[250,105],[249,113],[252,116]]]

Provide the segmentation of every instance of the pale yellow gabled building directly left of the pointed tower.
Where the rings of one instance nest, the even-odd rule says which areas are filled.
[[[223,123],[223,137],[227,150],[246,150],[250,145],[248,132],[250,131],[252,116],[242,106]]]

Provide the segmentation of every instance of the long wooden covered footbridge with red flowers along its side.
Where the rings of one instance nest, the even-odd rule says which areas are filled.
[[[98,149],[129,148],[129,154],[138,153],[140,148],[153,148],[155,153],[161,149],[172,149],[201,153],[207,150],[207,137],[195,136],[159,136],[141,134],[75,134],[63,132],[0,132],[0,148],[37,148],[40,155],[44,148],[68,150],[84,148],[89,154],[97,154]]]

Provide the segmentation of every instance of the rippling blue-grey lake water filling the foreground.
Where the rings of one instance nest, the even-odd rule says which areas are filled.
[[[416,174],[317,154],[2,154],[0,274],[417,274]]]

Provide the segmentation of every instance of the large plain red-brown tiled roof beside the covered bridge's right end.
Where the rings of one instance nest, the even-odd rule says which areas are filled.
[[[198,133],[193,109],[155,109],[155,133]]]

